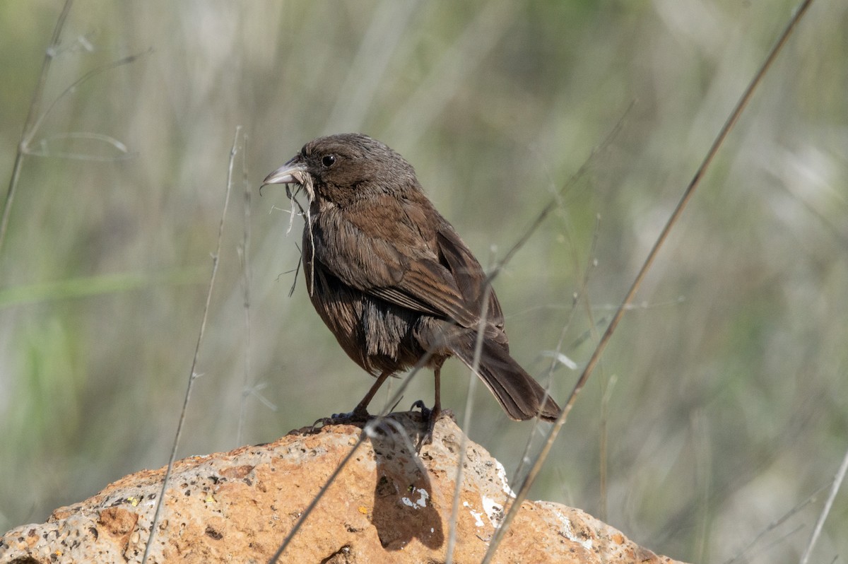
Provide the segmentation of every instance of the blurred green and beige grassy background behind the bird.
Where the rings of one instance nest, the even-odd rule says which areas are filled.
[[[558,346],[589,358],[795,5],[78,0],[0,249],[0,529],[167,462],[237,126],[181,457],[271,441],[371,385],[302,273],[289,297],[302,221],[287,234],[285,191],[258,193],[304,142],[388,143],[483,265],[554,201],[494,284],[513,355],[546,380]],[[4,185],[61,9],[0,3]],[[683,561],[798,560],[848,448],[845,29],[848,4],[818,0],[790,38],[533,499]],[[579,371],[556,368],[564,401]],[[468,371],[443,373],[462,422]],[[474,398],[466,432],[511,475],[540,434]],[[432,403],[430,373],[399,408],[415,399]],[[813,560],[845,561],[845,530],[842,493]]]

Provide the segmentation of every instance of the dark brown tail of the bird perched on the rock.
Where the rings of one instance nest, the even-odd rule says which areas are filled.
[[[503,345],[483,340],[479,366],[474,365],[474,335],[450,345],[451,351],[483,380],[498,399],[506,415],[515,421],[526,421],[539,416],[545,421],[555,421],[560,416],[560,406],[538,382],[512,360]]]

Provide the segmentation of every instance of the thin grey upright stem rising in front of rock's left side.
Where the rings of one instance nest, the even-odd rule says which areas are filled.
[[[236,127],[236,136],[232,140],[232,148],[230,149],[230,163],[226,174],[226,196],[224,197],[224,209],[220,212],[220,224],[218,226],[218,243],[215,246],[215,254],[212,255],[212,273],[209,275],[209,289],[206,291],[206,304],[204,305],[204,316],[200,321],[200,331],[198,332],[198,343],[194,347],[194,358],[192,359],[192,369],[189,372],[188,384],[186,387],[186,395],[182,399],[182,409],[180,410],[180,421],[176,424],[176,433],[174,435],[174,444],[170,450],[170,458],[168,459],[168,468],[165,470],[165,477],[162,478],[162,489],[159,491],[159,498],[156,500],[156,511],[153,513],[153,522],[150,523],[150,536],[148,542],[144,546],[144,556],[142,556],[142,564],[148,561],[150,549],[153,546],[153,539],[156,537],[156,529],[159,527],[159,517],[161,517],[162,507],[165,506],[165,492],[168,488],[168,478],[174,469],[176,461],[176,450],[180,446],[180,438],[182,436],[182,427],[186,422],[186,412],[188,410],[188,402],[192,396],[192,387],[197,374],[194,369],[198,366],[198,355],[200,353],[200,344],[204,340],[204,331],[206,329],[206,319],[209,316],[209,303],[212,301],[212,289],[215,288],[215,275],[218,273],[218,257],[220,256],[220,242],[224,235],[224,221],[226,219],[226,209],[230,204],[230,193],[232,192],[232,165],[236,159],[238,147],[238,137],[242,133],[242,126]]]

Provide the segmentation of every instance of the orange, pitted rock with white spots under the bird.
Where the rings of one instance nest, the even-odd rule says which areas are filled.
[[[415,454],[420,414],[393,414],[355,450],[281,562],[444,562],[462,432],[440,419]],[[267,562],[362,429],[327,425],[176,462],[148,562]],[[510,503],[504,467],[468,441],[454,561],[479,562]],[[0,538],[0,562],[140,562],[165,468],[109,484]],[[525,501],[495,562],[673,562],[583,511]]]

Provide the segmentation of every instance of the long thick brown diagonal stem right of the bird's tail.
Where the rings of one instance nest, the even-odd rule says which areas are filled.
[[[806,9],[810,7],[810,4],[812,4],[812,0],[805,0],[803,3],[801,3],[801,6],[799,6],[799,8],[795,11],[795,14],[793,14],[792,18],[789,20],[789,23],[785,26],[783,33],[781,33],[781,35],[778,37],[778,41],[775,42],[771,51],[769,51],[760,69],[756,71],[756,74],[748,83],[748,87],[745,88],[745,92],[742,93],[742,96],[739,98],[739,101],[736,103],[736,106],[731,111],[728,120],[724,122],[722,129],[718,132],[716,138],[713,140],[712,145],[707,151],[704,159],[701,161],[698,170],[695,171],[695,176],[693,176],[692,180],[689,181],[689,186],[687,186],[686,189],[683,191],[683,197],[680,198],[677,207],[672,212],[672,215],[668,218],[666,225],[662,228],[659,237],[657,237],[656,239],[656,243],[654,243],[654,246],[650,249],[650,253],[648,254],[648,257],[644,260],[642,268],[639,270],[639,273],[633,280],[633,284],[628,290],[628,293],[622,300],[622,304],[618,307],[618,310],[616,310],[616,315],[612,317],[610,325],[606,328],[606,331],[604,332],[604,336],[600,339],[600,343],[598,343],[598,346],[594,349],[594,353],[589,358],[589,362],[587,363],[586,368],[583,370],[583,374],[580,376],[580,378],[577,380],[577,383],[574,385],[572,394],[566,401],[566,405],[564,405],[562,408],[562,413],[560,415],[559,420],[554,424],[553,427],[551,427],[550,433],[548,435],[548,440],[546,444],[544,444],[542,451],[539,453],[537,461],[533,464],[533,467],[530,469],[530,472],[524,479],[521,489],[518,490],[518,493],[516,495],[516,500],[513,501],[512,505],[510,506],[510,510],[507,512],[504,518],[504,521],[500,524],[500,527],[495,532],[494,537],[492,538],[491,544],[489,544],[489,549],[486,552],[486,557],[483,559],[483,564],[492,561],[492,558],[494,557],[494,552],[495,550],[497,550],[498,544],[500,543],[501,539],[503,539],[505,531],[509,528],[510,522],[512,522],[512,520],[516,517],[516,514],[519,508],[521,507],[522,501],[527,498],[527,492],[530,490],[530,486],[533,485],[533,482],[538,476],[539,470],[544,464],[544,461],[547,459],[557,433],[560,432],[562,425],[566,422],[568,413],[572,410],[574,402],[577,399],[577,394],[579,394],[580,391],[583,389],[583,386],[586,385],[586,382],[589,380],[589,376],[591,376],[595,366],[598,365],[600,356],[606,349],[606,345],[610,342],[612,333],[616,331],[618,323],[622,321],[624,312],[628,309],[628,304],[633,301],[633,296],[636,294],[637,290],[642,285],[644,276],[650,270],[651,265],[654,264],[656,255],[659,254],[663,243],[666,242],[669,232],[671,232],[672,227],[675,226],[680,216],[683,214],[683,209],[685,209],[686,205],[689,204],[689,200],[695,193],[695,188],[700,185],[700,180],[703,178],[704,173],[706,172],[712,160],[718,153],[718,149],[721,148],[722,143],[728,137],[728,133],[731,129],[733,129],[733,126],[735,125],[736,121],[739,120],[739,115],[742,114],[742,111],[745,109],[745,106],[750,101],[750,98],[756,90],[756,87],[761,83],[762,77],[771,67],[774,62],[774,59],[777,58],[778,53],[780,53],[780,51],[783,49],[786,40],[791,35],[792,31],[795,30],[795,26],[798,24],[799,21],[801,21],[801,18],[806,13]]]

